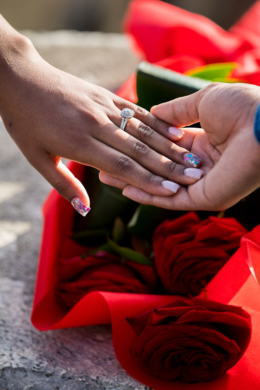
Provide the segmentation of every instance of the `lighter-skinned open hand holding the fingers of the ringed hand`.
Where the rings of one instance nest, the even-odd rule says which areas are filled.
[[[260,145],[254,118],[260,87],[213,83],[195,94],[159,104],[151,113],[183,128],[199,122],[202,129],[184,128],[176,143],[202,158],[198,182],[171,196],[153,195],[100,173],[100,179],[123,189],[123,195],[174,210],[223,210],[260,187]]]

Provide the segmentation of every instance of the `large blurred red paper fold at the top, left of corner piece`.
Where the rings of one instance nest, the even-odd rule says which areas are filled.
[[[132,1],[124,27],[149,62],[177,54],[195,55],[206,63],[231,61],[252,48],[212,20],[158,0]]]

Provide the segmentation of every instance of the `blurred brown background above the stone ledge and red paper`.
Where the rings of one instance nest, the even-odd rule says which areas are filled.
[[[17,29],[120,32],[130,0],[0,0],[0,12]],[[169,0],[230,27],[254,0]]]

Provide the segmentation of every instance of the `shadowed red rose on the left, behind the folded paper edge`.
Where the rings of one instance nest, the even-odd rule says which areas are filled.
[[[150,293],[157,277],[153,267],[105,252],[61,259],[57,293],[68,308],[92,291]]]

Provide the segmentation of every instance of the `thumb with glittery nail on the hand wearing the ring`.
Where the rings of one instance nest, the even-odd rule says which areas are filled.
[[[37,169],[61,196],[71,202],[78,213],[87,215],[90,211],[89,196],[80,180],[62,163],[60,157],[44,158]]]

